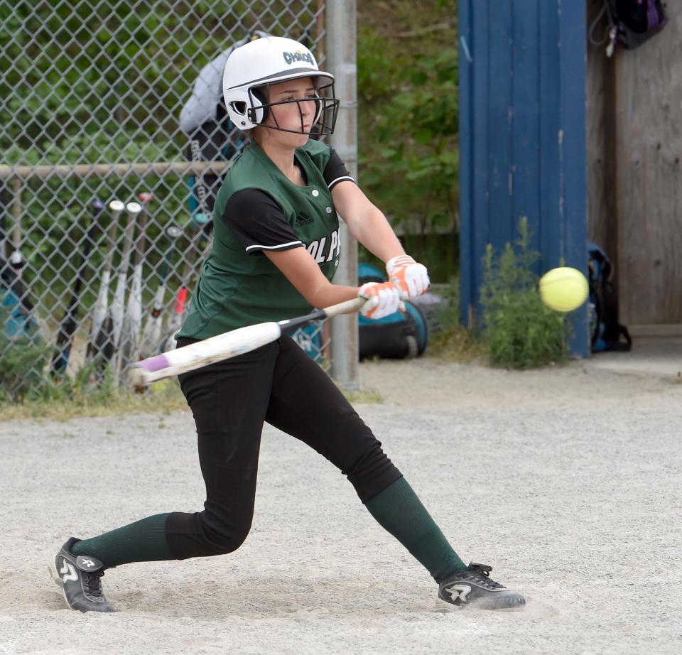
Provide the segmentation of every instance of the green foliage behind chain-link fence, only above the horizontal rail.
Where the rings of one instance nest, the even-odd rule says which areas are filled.
[[[109,0],[94,15],[89,2],[4,2],[0,97],[9,102],[0,103],[0,146],[18,146],[27,153],[22,163],[31,163],[33,148],[42,157],[75,132],[109,141],[121,134],[165,150],[161,161],[174,158],[185,147],[178,113],[195,73],[253,28],[280,33],[291,13],[298,16],[291,36],[308,39],[305,23],[315,23],[309,4],[180,0],[169,11],[168,4]]]

